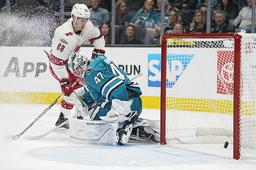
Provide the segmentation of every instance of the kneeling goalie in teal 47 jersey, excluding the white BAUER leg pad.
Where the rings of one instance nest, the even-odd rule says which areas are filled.
[[[130,82],[126,73],[106,56],[95,56],[95,59],[90,60],[85,54],[73,54],[69,57],[68,67],[72,73],[86,79],[82,96],[84,104],[90,108],[92,103],[96,103],[89,115],[90,120],[119,124],[117,143],[127,144],[133,125],[142,111],[139,85]],[[78,97],[81,98],[80,95]],[[159,142],[156,131],[141,127],[142,121],[138,123],[134,133],[138,130],[141,136]]]

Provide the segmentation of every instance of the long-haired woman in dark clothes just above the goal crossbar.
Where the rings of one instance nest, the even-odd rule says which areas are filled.
[[[195,11],[190,24],[190,33],[206,33],[206,14],[201,9]]]

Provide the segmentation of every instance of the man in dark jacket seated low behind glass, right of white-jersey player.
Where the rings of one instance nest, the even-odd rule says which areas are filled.
[[[135,35],[135,27],[128,25],[125,31],[127,39],[122,40],[119,44],[143,44],[141,40],[137,39]]]

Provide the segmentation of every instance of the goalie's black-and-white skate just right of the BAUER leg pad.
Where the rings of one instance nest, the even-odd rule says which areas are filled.
[[[117,143],[122,146],[127,144],[130,134],[132,133],[132,124],[130,125],[123,125],[123,127],[117,129]]]

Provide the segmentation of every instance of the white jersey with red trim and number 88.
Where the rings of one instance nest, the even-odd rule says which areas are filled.
[[[90,20],[80,34],[74,32],[72,18],[56,29],[52,39],[50,65],[59,79],[69,78],[67,73],[68,57],[80,51],[81,44],[85,39],[89,39],[96,49],[105,47],[102,32]]]

